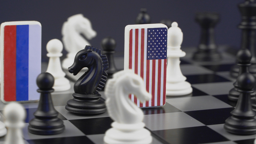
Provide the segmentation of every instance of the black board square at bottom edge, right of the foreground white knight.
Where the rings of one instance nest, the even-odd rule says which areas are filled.
[[[203,144],[229,141],[207,126],[152,131],[170,144]]]

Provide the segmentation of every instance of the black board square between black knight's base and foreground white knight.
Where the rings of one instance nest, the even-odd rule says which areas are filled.
[[[69,120],[84,134],[105,134],[111,128],[113,120],[110,117],[105,118],[87,118],[78,120]]]

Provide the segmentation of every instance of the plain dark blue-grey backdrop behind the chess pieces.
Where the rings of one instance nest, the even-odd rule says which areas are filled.
[[[163,19],[177,22],[184,39],[182,47],[196,47],[200,26],[195,22],[197,12],[217,12],[220,22],[215,28],[217,45],[240,47],[241,16],[237,8],[244,0],[0,0],[0,23],[36,20],[42,24],[42,61],[48,61],[46,44],[51,39],[62,40],[61,29],[69,16],[82,13],[92,23],[97,36],[92,46],[101,48],[106,36],[116,41],[115,56],[124,55],[125,26],[135,24],[141,8],[146,8],[151,23]],[[65,49],[63,50],[66,56]]]

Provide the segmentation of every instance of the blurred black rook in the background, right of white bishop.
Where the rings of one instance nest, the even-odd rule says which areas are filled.
[[[193,59],[196,61],[219,61],[222,56],[217,51],[214,37],[214,27],[220,20],[218,13],[197,13],[196,22],[201,26],[200,44]]]

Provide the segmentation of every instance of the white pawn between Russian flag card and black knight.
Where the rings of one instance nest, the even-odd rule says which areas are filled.
[[[69,80],[65,78],[65,72],[61,68],[59,57],[62,56],[63,45],[59,39],[52,39],[46,45],[49,64],[46,72],[49,72],[54,77],[53,89],[55,92],[66,91],[71,86]]]

